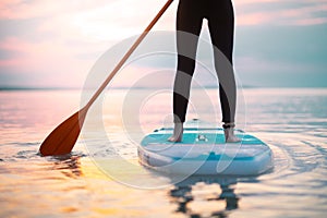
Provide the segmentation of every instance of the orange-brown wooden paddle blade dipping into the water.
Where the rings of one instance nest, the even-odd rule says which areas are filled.
[[[70,154],[78,138],[88,108],[84,108],[58,125],[44,141],[39,152],[43,156]]]

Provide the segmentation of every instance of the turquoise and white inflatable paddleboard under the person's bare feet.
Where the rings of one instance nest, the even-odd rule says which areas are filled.
[[[168,142],[173,129],[146,135],[138,146],[141,165],[173,174],[256,175],[272,168],[272,152],[259,138],[235,130],[240,143],[225,143],[219,128],[184,128],[181,143]]]

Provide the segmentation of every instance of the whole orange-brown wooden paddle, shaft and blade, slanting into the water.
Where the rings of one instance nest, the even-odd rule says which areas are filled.
[[[124,57],[120,60],[117,66],[112,70],[102,85],[97,89],[87,105],[82,108],[80,111],[72,114],[69,119],[63,121],[60,125],[58,125],[43,142],[39,152],[43,156],[55,156],[55,155],[65,155],[72,152],[75,142],[78,138],[81,129],[83,126],[86,113],[97,97],[102,93],[108,83],[112,80],[112,77],[117,74],[117,72],[121,69],[124,62],[130,58],[133,51],[137,48],[137,46],[145,38],[147,33],[153,28],[153,26],[157,23],[160,16],[165,13],[165,11],[169,8],[173,0],[168,0],[167,3],[162,7],[156,17],[150,22],[150,24],[145,28],[142,35],[136,39],[130,50],[124,55]]]

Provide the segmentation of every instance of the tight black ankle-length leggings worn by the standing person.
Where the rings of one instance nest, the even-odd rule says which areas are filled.
[[[219,80],[222,122],[234,122],[237,88],[232,70],[234,16],[231,0],[180,0],[177,14],[178,71],[173,87],[174,122],[184,122],[203,19],[207,19]],[[192,34],[193,37],[186,35]],[[220,50],[220,51],[218,51]],[[225,55],[225,64],[221,53]],[[228,64],[226,64],[228,62]],[[222,69],[222,70],[219,70]]]

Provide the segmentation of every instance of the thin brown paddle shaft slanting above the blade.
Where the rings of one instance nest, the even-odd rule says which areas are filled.
[[[149,23],[149,25],[144,29],[142,35],[136,39],[136,41],[133,44],[133,46],[130,48],[130,50],[124,55],[124,57],[120,60],[120,62],[116,65],[116,68],[111,71],[109,76],[106,78],[106,81],[101,84],[101,86],[97,89],[97,92],[93,95],[90,100],[85,106],[86,108],[89,108],[94,101],[98,98],[98,96],[102,93],[102,90],[107,87],[107,85],[110,83],[112,77],[117,74],[117,72],[121,69],[121,66],[126,62],[126,60],[131,57],[133,51],[137,48],[137,46],[142,43],[142,40],[145,38],[145,36],[148,34],[148,32],[154,27],[154,25],[157,23],[157,21],[161,17],[161,15],[166,12],[166,10],[169,8],[169,5],[172,3],[173,0],[168,0],[166,4],[162,7],[162,9],[158,12],[156,17]]]

